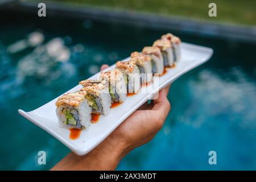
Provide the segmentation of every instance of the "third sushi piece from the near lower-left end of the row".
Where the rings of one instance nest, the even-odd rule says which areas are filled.
[[[124,102],[127,97],[127,80],[118,69],[101,72],[99,80],[106,80],[112,102]]]

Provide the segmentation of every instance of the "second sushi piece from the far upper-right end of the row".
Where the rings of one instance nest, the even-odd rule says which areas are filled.
[[[174,64],[174,53],[172,52],[171,42],[167,39],[158,39],[154,42],[153,46],[160,49],[164,67],[172,67]]]

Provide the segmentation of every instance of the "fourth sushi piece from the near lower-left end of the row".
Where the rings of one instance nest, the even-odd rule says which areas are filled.
[[[123,73],[127,80],[127,93],[138,93],[141,88],[139,68],[131,61],[117,61],[115,68]]]

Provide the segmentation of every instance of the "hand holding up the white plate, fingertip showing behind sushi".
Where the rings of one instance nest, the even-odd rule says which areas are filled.
[[[101,70],[108,67],[106,64],[102,65]],[[139,107],[104,142],[112,145],[115,150],[121,151],[123,156],[133,148],[141,146],[154,138],[162,128],[171,109],[170,102],[167,99],[169,89],[170,85],[160,90],[158,98],[152,100],[151,104],[145,103]]]

